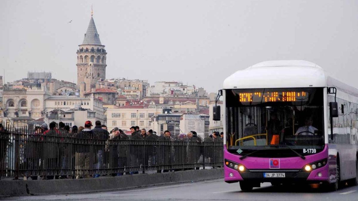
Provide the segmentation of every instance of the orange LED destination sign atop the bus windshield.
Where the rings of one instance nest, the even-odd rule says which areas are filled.
[[[301,102],[308,100],[308,92],[304,91],[271,91],[238,93],[241,103],[249,102]]]

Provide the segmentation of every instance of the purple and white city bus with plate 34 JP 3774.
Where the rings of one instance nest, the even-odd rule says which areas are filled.
[[[224,181],[358,184],[358,89],[303,60],[267,61],[224,80]],[[220,106],[213,120],[220,120]]]

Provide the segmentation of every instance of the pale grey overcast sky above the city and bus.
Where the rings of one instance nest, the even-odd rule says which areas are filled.
[[[50,71],[77,82],[91,4],[108,53],[106,78],[175,80],[216,92],[252,64],[303,59],[358,87],[357,0],[1,0],[5,81]]]

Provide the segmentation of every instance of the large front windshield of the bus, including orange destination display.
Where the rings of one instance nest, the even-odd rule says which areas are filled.
[[[227,89],[225,101],[232,153],[324,145],[323,88]]]

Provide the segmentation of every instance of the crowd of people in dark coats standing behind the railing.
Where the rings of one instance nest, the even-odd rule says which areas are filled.
[[[0,127],[3,129],[1,125]],[[20,161],[20,168],[45,170],[49,176],[42,176],[44,179],[99,177],[107,175],[104,173],[106,171],[102,171],[106,169],[113,170],[113,173],[110,173],[112,176],[124,173],[136,174],[138,171],[127,171],[126,168],[140,169],[144,173],[144,170],[153,170],[153,168],[149,168],[151,166],[161,167],[157,172],[168,172],[174,171],[174,169],[170,169],[173,163],[190,163],[195,166],[194,168],[199,168],[200,165],[195,164],[202,164],[205,157],[212,160],[212,153],[204,156],[205,151],[200,146],[163,146],[163,142],[159,142],[188,141],[198,144],[211,141],[222,142],[223,137],[223,133],[214,132],[212,138],[202,139],[195,131],[179,135],[164,131],[162,135],[157,135],[152,129],[146,131],[138,126],[132,126],[130,132],[131,134],[127,135],[117,127],[108,132],[107,126],[101,124],[100,121],[96,121],[95,126],[91,121],[86,121],[84,127],[70,127],[63,122],[58,124],[51,122],[49,125],[44,123],[35,127],[29,133],[30,135],[20,139],[23,142],[20,145],[22,148],[20,155],[23,158]],[[126,139],[140,140],[137,141],[140,143],[130,141],[129,144],[126,143]],[[39,144],[38,142],[43,143]],[[40,149],[43,153],[36,153]],[[6,150],[3,151],[6,152]],[[69,172],[73,169],[75,174],[71,175]],[[51,172],[52,170],[53,172]],[[58,170],[61,172],[59,173]],[[29,174],[30,176],[26,176],[26,178],[31,177],[33,180],[37,179],[39,175],[43,175],[41,172],[34,173],[34,171]]]

